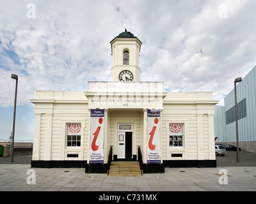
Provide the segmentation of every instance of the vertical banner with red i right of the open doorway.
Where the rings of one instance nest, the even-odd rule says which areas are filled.
[[[161,163],[160,110],[147,110],[147,163]]]

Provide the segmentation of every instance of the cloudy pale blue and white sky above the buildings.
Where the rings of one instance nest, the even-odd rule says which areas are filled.
[[[36,90],[86,91],[109,80],[113,40],[125,28],[141,47],[141,81],[166,91],[211,91],[224,104],[256,65],[255,0],[1,0],[0,139],[33,140]]]

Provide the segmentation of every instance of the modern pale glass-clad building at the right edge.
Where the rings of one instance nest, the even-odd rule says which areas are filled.
[[[242,150],[256,152],[256,66],[237,84],[237,117],[239,130],[239,147]],[[224,110],[223,110],[224,108]],[[225,97],[225,107],[215,107],[216,143],[236,145],[236,111],[234,89]],[[223,111],[224,114],[223,115]],[[223,119],[223,116],[225,119]],[[218,123],[223,120],[225,135],[221,136],[223,126]]]

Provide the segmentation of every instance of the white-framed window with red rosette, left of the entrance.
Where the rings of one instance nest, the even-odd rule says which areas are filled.
[[[81,124],[68,123],[67,124],[67,147],[81,146]]]

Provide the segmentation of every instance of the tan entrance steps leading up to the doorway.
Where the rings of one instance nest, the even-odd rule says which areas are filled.
[[[112,161],[109,176],[140,177],[140,163],[138,161]]]

